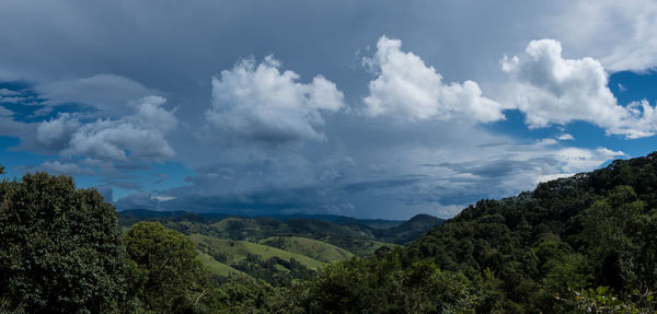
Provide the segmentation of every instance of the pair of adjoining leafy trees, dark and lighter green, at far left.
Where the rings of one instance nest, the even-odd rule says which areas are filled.
[[[187,237],[138,223],[122,239],[114,208],[66,176],[2,181],[0,240],[0,313],[183,313],[208,289]]]

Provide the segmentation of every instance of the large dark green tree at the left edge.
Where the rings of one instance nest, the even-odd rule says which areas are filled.
[[[28,313],[113,312],[124,293],[114,208],[68,176],[0,185],[0,299]]]

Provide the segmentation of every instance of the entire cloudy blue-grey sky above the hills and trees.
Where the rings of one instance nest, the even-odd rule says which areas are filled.
[[[0,2],[0,164],[117,210],[408,219],[657,148],[657,2]]]

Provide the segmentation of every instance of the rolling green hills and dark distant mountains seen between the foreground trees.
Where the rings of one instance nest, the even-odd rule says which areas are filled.
[[[158,221],[186,234],[216,280],[251,276],[274,286],[306,278],[326,263],[400,246],[443,222],[429,214],[400,221],[332,214],[237,217],[145,209],[119,211],[118,218],[124,230],[140,221]]]

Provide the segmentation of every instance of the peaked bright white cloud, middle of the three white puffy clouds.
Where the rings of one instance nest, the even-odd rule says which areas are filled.
[[[382,36],[374,57],[365,59],[378,73],[364,98],[367,115],[403,120],[445,120],[461,115],[483,123],[504,119],[503,106],[483,97],[476,82],[446,84],[434,67],[401,47],[401,40]]]

